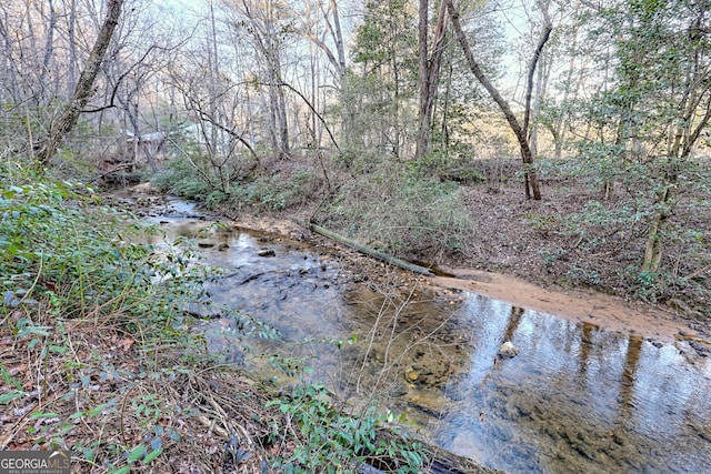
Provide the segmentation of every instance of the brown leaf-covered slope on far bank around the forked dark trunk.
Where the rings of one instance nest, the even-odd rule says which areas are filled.
[[[661,265],[654,272],[641,271],[653,192],[628,179],[605,199],[602,185],[588,182],[589,174],[574,175],[564,168],[572,163],[551,164],[538,202],[524,200],[517,177],[493,192],[470,188],[467,208],[479,225],[464,265],[539,285],[590,288],[710,320],[711,209],[703,199],[708,191],[679,192],[662,234]],[[709,170],[702,174],[711,175]]]

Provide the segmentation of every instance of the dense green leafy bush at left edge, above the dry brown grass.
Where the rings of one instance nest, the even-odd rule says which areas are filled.
[[[28,178],[6,180],[0,195],[6,303],[51,303],[62,317],[106,315],[122,324],[150,314],[169,327],[200,291],[206,269],[189,265],[191,254],[166,262],[137,243],[138,228],[122,224],[90,188]]]

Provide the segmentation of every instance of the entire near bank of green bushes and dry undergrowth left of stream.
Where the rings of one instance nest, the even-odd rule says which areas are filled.
[[[137,243],[91,189],[0,173],[0,450],[69,450],[88,473],[422,471],[388,415],[317,385],[279,396],[209,354],[183,311],[209,274],[189,246]]]

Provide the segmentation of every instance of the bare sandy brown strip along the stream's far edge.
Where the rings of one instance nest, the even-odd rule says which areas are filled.
[[[136,205],[129,204],[129,209],[139,216],[146,216],[150,213],[147,210],[151,205],[162,205],[161,203],[166,202],[166,198],[153,194],[152,186],[147,183],[133,188],[128,195],[131,199],[136,198]],[[214,219],[227,219],[227,222],[237,229],[263,233],[266,239],[277,242],[289,239],[293,242],[308,243],[320,253],[338,255],[354,280],[362,280],[367,275],[373,280],[385,280],[382,278],[382,269],[385,269],[385,265],[381,262],[312,233],[292,219],[250,213],[226,218],[219,212],[204,213],[203,219],[210,215]],[[308,219],[303,219],[303,221],[308,221]],[[511,248],[511,245],[504,246]],[[499,264],[492,260],[491,265],[483,266],[499,266]],[[439,268],[453,278],[419,279],[419,281],[425,282],[427,286],[438,295],[447,297],[452,292],[474,292],[519,307],[544,312],[573,322],[589,322],[604,330],[643,335],[662,342],[692,341],[699,351],[711,353],[711,323],[705,320],[688,317],[665,306],[629,301],[593,290],[562,289],[538,273],[535,273],[535,278],[539,279],[538,283],[533,283],[530,279],[521,278],[527,266],[521,266],[513,273],[501,273],[479,268],[459,268],[452,265],[450,261]],[[415,279],[405,272],[400,273],[402,273],[398,276],[400,282]],[[529,273],[533,274],[533,272]],[[390,274],[388,273],[387,276],[389,279]],[[453,299],[457,300],[457,296]]]

